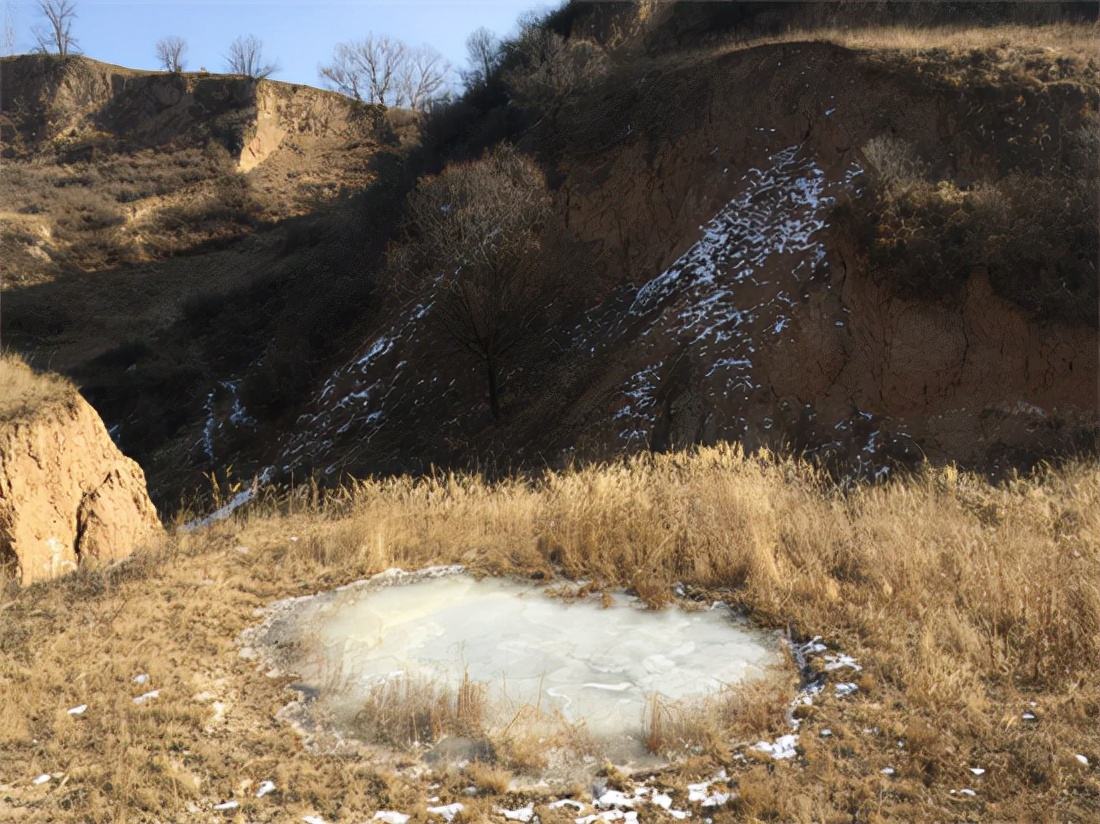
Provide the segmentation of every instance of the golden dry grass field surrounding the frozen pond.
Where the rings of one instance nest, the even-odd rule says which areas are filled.
[[[300,488],[123,567],[9,592],[0,817],[19,804],[32,821],[198,821],[235,796],[250,821],[343,821],[409,811],[426,794],[461,800],[465,776],[437,777],[443,787],[428,793],[361,758],[302,750],[272,721],[287,679],[254,671],[233,641],[277,598],[446,562],[591,579],[653,604],[676,581],[723,591],[763,625],[856,656],[860,691],[826,690],[802,713],[793,762],[732,758],[737,744],[787,730],[790,685],[664,719],[666,748],[688,743],[694,755],[663,780],[723,766],[741,818],[1087,821],[1100,811],[1096,465],[997,487],[948,468],[842,494],[805,466],[727,448],[535,482]],[[136,686],[141,671],[151,681]],[[161,696],[130,701],[150,688]],[[80,703],[85,715],[66,714]],[[41,772],[59,778],[35,787]],[[251,798],[268,778],[278,795]],[[950,792],[963,787],[978,794]]]

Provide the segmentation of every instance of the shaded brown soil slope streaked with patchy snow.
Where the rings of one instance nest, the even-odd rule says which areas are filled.
[[[556,464],[734,439],[877,473],[922,455],[1007,469],[1093,442],[1094,325],[1043,317],[978,264],[941,294],[906,292],[836,217],[872,186],[864,147],[883,134],[953,191],[1042,179],[1046,147],[1096,108],[1096,67],[1033,51],[785,43],[613,78],[598,106],[566,105],[527,138],[557,157],[571,239],[613,288],[515,359],[504,422],[463,413],[484,392],[477,365],[439,367],[424,296],[270,463]]]

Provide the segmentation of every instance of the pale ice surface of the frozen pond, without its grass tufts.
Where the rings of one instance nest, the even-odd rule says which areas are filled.
[[[453,694],[468,678],[480,685],[490,733],[526,710],[583,723],[595,738],[641,740],[652,696],[703,697],[780,660],[772,637],[721,604],[686,612],[645,609],[625,595],[566,601],[453,571],[383,575],[284,602],[245,642],[296,672],[346,735],[387,684]]]

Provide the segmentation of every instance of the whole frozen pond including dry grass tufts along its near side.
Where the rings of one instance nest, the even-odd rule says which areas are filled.
[[[703,702],[782,660],[777,638],[722,603],[652,611],[578,592],[391,571],[276,604],[242,655],[298,679],[284,715],[315,746],[382,743],[432,761],[491,758],[521,736],[623,766],[652,763],[654,707]]]

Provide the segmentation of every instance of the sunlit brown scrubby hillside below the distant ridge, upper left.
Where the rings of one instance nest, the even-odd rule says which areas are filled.
[[[7,286],[142,263],[369,185],[378,107],[249,77],[46,55],[0,66]]]

